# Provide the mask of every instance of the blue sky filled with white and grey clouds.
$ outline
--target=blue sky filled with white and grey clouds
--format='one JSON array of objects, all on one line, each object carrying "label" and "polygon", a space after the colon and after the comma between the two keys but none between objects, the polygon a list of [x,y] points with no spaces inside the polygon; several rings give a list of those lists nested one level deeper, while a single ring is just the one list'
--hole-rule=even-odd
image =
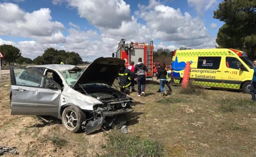
[{"label": "blue sky filled with white and grey clouds", "polygon": [[0,0],[0,45],[34,59],[49,47],[84,61],[111,57],[121,39],[154,49],[215,48],[222,0]]}]

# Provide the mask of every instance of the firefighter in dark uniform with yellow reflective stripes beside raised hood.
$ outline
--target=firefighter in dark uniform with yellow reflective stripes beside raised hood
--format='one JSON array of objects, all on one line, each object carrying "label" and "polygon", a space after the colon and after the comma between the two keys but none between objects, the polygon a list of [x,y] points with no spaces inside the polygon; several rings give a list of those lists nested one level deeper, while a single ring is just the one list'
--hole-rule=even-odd
[{"label": "firefighter in dark uniform with yellow reflective stripes beside raised hood", "polygon": [[127,69],[125,65],[121,67],[118,73],[118,82],[120,86],[120,91],[126,94],[130,94],[131,80],[134,78],[134,72]]}]

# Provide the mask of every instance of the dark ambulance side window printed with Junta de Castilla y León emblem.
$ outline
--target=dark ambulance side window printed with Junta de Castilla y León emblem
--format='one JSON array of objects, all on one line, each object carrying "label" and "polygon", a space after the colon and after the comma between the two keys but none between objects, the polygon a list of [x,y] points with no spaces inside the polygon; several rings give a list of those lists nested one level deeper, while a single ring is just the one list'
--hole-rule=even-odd
[{"label": "dark ambulance side window printed with Junta de Castilla y Le\u00f3n emblem", "polygon": [[198,57],[198,69],[219,69],[221,57]]}]

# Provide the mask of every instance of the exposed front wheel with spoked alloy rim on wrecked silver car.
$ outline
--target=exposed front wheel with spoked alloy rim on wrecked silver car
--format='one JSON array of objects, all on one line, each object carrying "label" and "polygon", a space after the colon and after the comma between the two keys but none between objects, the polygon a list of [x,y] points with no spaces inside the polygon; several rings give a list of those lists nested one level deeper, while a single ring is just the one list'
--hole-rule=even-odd
[{"label": "exposed front wheel with spoked alloy rim on wrecked silver car", "polygon": [[81,130],[82,122],[85,119],[85,113],[75,106],[66,107],[62,113],[63,126],[73,133],[78,133]]}]

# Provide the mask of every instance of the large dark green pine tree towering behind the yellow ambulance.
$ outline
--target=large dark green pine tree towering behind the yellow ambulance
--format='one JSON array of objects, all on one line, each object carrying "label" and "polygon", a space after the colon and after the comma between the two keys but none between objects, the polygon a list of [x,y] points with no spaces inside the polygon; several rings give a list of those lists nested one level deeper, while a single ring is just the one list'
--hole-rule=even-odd
[{"label": "large dark green pine tree towering behind the yellow ambulance", "polygon": [[256,58],[256,0],[224,0],[213,18],[225,22],[217,34],[220,47],[245,50],[251,60]]}]

